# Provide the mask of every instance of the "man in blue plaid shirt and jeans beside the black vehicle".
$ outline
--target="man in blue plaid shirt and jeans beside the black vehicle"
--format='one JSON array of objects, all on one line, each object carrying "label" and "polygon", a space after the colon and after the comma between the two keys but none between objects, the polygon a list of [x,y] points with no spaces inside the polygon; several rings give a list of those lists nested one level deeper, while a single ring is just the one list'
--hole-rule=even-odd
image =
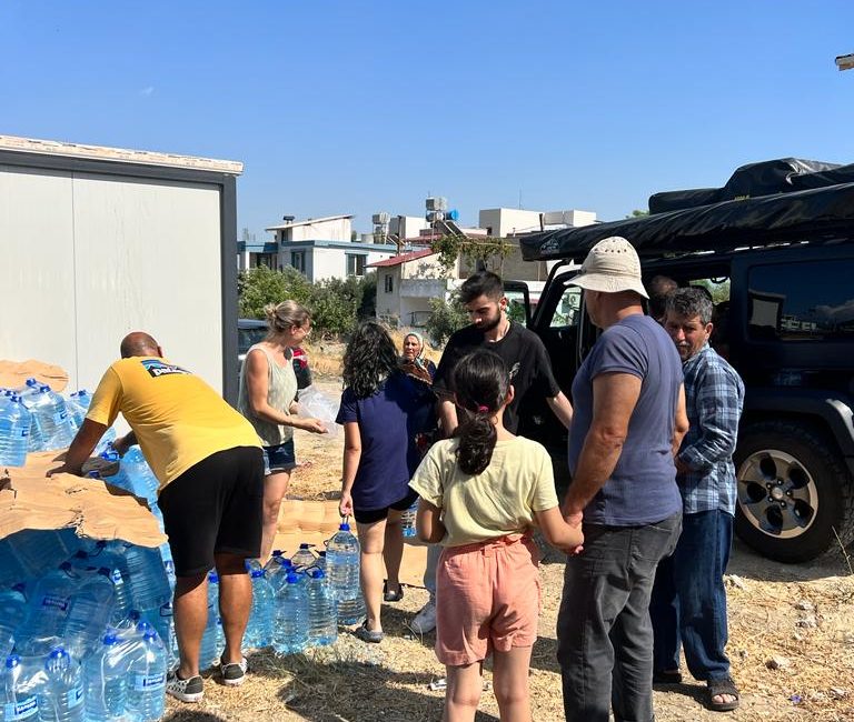
[{"label": "man in blue plaid shirt and jeans beside the black vehicle", "polygon": [[682,358],[691,428],[676,455],[682,537],[673,556],[658,564],[649,605],[655,632],[654,681],[682,681],[682,645],[688,671],[708,685],[708,708],[724,712],[738,706],[738,690],[724,651],[723,576],[733,540],[733,451],[744,384],[708,345],[712,299],[705,289],[689,287],[671,293],[664,327]]}]

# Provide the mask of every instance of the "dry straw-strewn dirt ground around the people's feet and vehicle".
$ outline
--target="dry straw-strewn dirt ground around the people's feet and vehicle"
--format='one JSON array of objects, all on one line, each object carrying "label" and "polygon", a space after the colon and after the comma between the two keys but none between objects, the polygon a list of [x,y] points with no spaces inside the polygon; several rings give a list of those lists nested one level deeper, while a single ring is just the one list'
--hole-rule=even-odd
[{"label": "dry straw-strewn dirt ground around the people's feet and vehicle", "polygon": [[[330,397],[340,380],[319,378]],[[291,495],[335,498],[339,491],[342,434],[325,440],[298,432],[297,454],[310,461],[298,470]],[[560,675],[555,661],[555,621],[563,588],[562,558],[542,565],[544,606],[534,648],[530,690],[534,719],[563,719]],[[686,683],[656,690],[656,719],[810,720],[854,722],[854,575],[841,551],[810,564],[786,565],[757,556],[736,543],[729,564],[728,653],[742,691],[741,708],[729,716],[705,710],[705,686]],[[441,691],[429,683],[444,668],[433,652],[433,634],[413,634],[407,622],[427,592],[406,588],[401,602],[385,604],[386,640],[368,645],[341,631],[332,648],[277,659],[249,655],[250,675],[239,689],[206,673],[205,700],[198,705],[169,701],[167,720],[208,722],[266,720],[310,722],[421,722],[441,715]],[[776,668],[776,669],[773,669]],[[490,680],[490,671],[485,671]],[[478,722],[498,720],[487,689]]]}]

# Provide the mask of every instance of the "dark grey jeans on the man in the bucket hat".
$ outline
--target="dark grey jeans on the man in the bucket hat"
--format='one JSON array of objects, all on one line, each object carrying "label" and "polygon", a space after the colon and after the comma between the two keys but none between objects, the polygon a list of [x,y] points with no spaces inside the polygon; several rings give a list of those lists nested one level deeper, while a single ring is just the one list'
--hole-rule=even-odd
[{"label": "dark grey jeans on the man in the bucket hat", "polygon": [[584,524],[557,616],[557,661],[567,722],[651,722],[655,568],[673,553],[682,514],[655,524]]}]

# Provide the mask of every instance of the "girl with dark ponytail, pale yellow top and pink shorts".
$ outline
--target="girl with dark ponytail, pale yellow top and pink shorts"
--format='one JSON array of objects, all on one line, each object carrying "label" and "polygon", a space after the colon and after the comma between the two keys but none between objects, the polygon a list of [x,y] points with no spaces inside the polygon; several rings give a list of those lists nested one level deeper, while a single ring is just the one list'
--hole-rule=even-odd
[{"label": "girl with dark ponytail, pale yellow top and pink shorts", "polygon": [[468,418],[454,439],[433,445],[409,482],[421,498],[418,537],[444,546],[436,574],[436,656],[448,678],[443,719],[475,719],[491,653],[502,720],[529,722],[540,609],[532,528],[566,551],[580,545],[582,531],[560,514],[548,452],[504,428],[513,387],[502,358],[470,353],[454,371],[454,388]]}]

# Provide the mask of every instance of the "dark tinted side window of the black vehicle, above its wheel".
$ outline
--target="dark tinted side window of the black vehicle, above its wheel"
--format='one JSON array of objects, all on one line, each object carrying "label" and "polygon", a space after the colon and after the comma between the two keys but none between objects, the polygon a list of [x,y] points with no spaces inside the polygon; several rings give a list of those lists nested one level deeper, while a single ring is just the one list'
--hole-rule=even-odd
[{"label": "dark tinted side window of the black vehicle, above its wheel", "polygon": [[748,277],[752,339],[854,339],[851,264],[838,260],[756,265]]}]

